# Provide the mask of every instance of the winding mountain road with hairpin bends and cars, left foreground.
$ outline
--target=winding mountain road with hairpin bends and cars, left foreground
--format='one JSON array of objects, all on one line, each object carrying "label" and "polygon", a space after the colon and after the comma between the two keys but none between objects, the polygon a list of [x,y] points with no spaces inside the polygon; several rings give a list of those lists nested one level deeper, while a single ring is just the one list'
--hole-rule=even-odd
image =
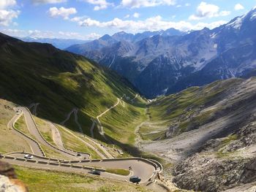
[{"label": "winding mountain road with hairpin bends and cars, left foreground", "polygon": [[[19,110],[19,114],[16,113],[15,116],[12,118],[12,120],[10,120],[10,122],[8,123],[7,126],[9,128],[13,128],[14,123],[18,120],[18,118],[20,118],[21,115],[24,115],[30,134],[33,135],[37,139],[37,141],[42,143],[42,145],[46,145],[47,147],[51,148],[52,150],[56,150],[56,148],[53,148],[53,146],[49,145],[48,142],[45,142],[45,140],[42,138],[42,135],[39,133],[37,125],[34,123],[34,119],[31,116],[31,113],[29,112],[29,110],[26,107],[15,108],[15,111],[18,111],[18,110]],[[55,135],[53,137],[54,140],[56,141],[56,143],[59,143],[58,147],[60,147],[60,148],[64,147],[58,128],[56,128],[56,129],[53,128],[52,130]],[[81,161],[81,160],[70,161],[70,163],[72,163],[73,166],[72,165],[70,166],[68,164],[63,165],[58,162],[50,163],[50,161],[47,158],[45,159],[45,157],[43,157],[42,152],[39,150],[37,142],[33,142],[32,140],[30,141],[28,137],[24,136],[23,134],[20,134],[20,132],[18,132],[18,131],[15,131],[13,129],[12,129],[12,131],[14,131],[15,134],[18,134],[23,139],[26,139],[26,141],[31,146],[32,152],[37,156],[34,157],[33,161],[23,159],[22,157],[23,157],[24,153],[8,154],[8,155],[4,156],[4,158],[1,158],[2,161],[7,161],[10,164],[15,164],[15,165],[20,165],[20,166],[29,166],[29,167],[33,167],[33,168],[39,168],[39,169],[55,169],[55,170],[59,170],[62,172],[80,172],[80,173],[88,173],[90,171],[90,169],[83,169],[83,166],[97,166],[97,167],[102,167],[104,169],[129,169],[129,166],[132,166],[132,172],[130,172],[130,174],[128,176],[121,176],[118,174],[110,174],[108,172],[102,172],[101,176],[113,178],[116,180],[129,181],[130,176],[137,175],[138,177],[141,178],[141,183],[146,183],[148,181],[148,179],[153,177],[153,175],[155,175],[155,173],[158,170],[157,164],[155,164],[152,161],[143,159],[143,158],[111,158],[111,159],[107,158],[107,159],[102,159],[102,160],[99,159],[99,160],[91,160],[91,161],[90,160],[89,161]],[[68,131],[68,130],[66,129],[66,131]],[[76,136],[71,131],[69,131],[69,134],[72,134],[72,136],[85,142],[83,139]],[[91,139],[91,141],[95,145],[99,145],[99,144],[97,144],[97,142],[94,142],[93,139]],[[88,143],[87,143],[87,145],[88,145]],[[93,147],[93,146],[91,145],[91,147]],[[59,150],[56,150],[56,151],[58,151],[60,153]],[[97,149],[95,149],[95,151],[97,151]],[[104,153],[108,154],[108,156],[112,156],[108,153],[107,150],[105,150]],[[66,157],[69,157],[68,153],[63,153],[63,155],[65,155]],[[8,157],[10,157],[10,158],[8,158]],[[11,158],[11,157],[13,157],[13,158]],[[72,158],[77,159],[77,157],[74,158],[74,156],[72,156]],[[102,156],[102,158],[103,158],[103,156]],[[104,156],[104,158],[105,158],[105,156]],[[81,168],[79,169],[79,167],[81,167]]]}]

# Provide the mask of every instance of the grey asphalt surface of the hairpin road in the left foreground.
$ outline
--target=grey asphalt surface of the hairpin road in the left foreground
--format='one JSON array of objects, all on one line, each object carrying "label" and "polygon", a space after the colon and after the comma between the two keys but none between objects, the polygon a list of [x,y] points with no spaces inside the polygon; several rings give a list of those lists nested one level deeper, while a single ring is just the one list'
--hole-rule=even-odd
[{"label": "grey asphalt surface of the hairpin road in the left foreground", "polygon": [[[39,134],[39,131],[37,130],[37,126],[34,123],[33,118],[31,117],[30,112],[26,109],[26,107],[18,107],[15,109],[20,110],[20,114],[16,114],[12,120],[8,123],[8,127],[11,128],[13,123],[15,123],[18,118],[23,114],[25,119],[26,119],[26,124],[28,126],[29,132],[31,135],[33,135],[37,141],[42,143],[42,145],[45,145],[47,147],[50,147],[52,150],[56,150],[54,147],[48,144],[48,142],[45,142],[44,139],[42,139],[42,136]],[[31,146],[31,150],[33,151],[34,154],[42,156],[42,152],[39,150],[38,145],[36,142],[32,141],[31,139],[28,139],[27,137],[23,136],[23,134],[18,133],[18,131],[15,131],[12,129],[12,131],[15,132],[15,134],[18,134],[20,137],[23,139],[26,139],[27,142],[29,142],[29,145]],[[55,130],[56,131],[56,130]],[[75,134],[74,134],[75,135]],[[56,137],[59,138],[59,135],[56,135]],[[76,136],[77,137],[77,136]],[[56,138],[56,139],[58,139]],[[79,138],[79,137],[78,137]],[[62,142],[62,140],[59,138],[58,142]],[[98,144],[99,145],[99,144]],[[63,143],[59,145],[59,147],[63,146]],[[60,153],[59,150],[58,153]],[[62,152],[64,156],[69,157],[69,154]],[[24,153],[13,153],[10,156],[16,157],[16,158],[23,158]],[[74,157],[70,155],[72,159],[74,160],[79,160],[78,157]],[[67,167],[67,166],[56,166],[56,165],[50,165],[48,164],[48,160],[45,160],[43,157],[34,157],[33,160],[36,161],[44,161],[45,164],[36,164],[33,162],[29,161],[18,161],[18,160],[12,160],[12,159],[7,159],[3,158],[3,161],[7,161],[10,164],[16,164],[20,166],[29,166],[33,168],[40,168],[40,169],[55,169],[63,172],[80,172],[80,173],[88,173],[90,170],[88,169],[78,169],[78,168],[73,168],[73,167]],[[53,161],[50,161],[53,162]],[[56,162],[56,161],[55,161]],[[127,160],[127,159],[118,159],[118,158],[111,158],[108,159],[108,161],[97,161],[97,162],[86,162],[86,163],[72,163],[74,165],[79,165],[79,166],[97,166],[97,167],[102,167],[103,169],[129,169],[129,166],[132,167],[132,171],[130,172],[129,176],[121,176],[118,174],[110,174],[108,172],[102,172],[101,176],[102,177],[109,177],[117,180],[129,180],[129,177],[132,175],[136,175],[141,178],[141,183],[146,183],[149,178],[151,178],[152,174],[156,172],[155,167],[146,161],[138,161],[136,159],[132,160]]]}]

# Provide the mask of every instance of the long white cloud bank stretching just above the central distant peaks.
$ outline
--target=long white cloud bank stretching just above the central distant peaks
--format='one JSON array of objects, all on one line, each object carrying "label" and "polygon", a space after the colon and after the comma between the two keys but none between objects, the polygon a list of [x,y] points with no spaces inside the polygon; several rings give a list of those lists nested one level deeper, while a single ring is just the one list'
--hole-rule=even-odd
[{"label": "long white cloud bank stretching just above the central distant peaks", "polygon": [[160,29],[167,28],[176,28],[181,31],[189,31],[189,30],[199,30],[204,27],[215,28],[224,23],[227,23],[224,20],[219,20],[214,23],[197,23],[192,24],[187,21],[181,20],[179,22],[166,21],[162,20],[161,16],[156,16],[153,18],[147,18],[146,20],[121,20],[119,18],[114,18],[113,20],[109,20],[107,22],[100,22],[99,20],[93,20],[91,18],[86,18],[84,20],[78,21],[80,26],[96,26],[99,28],[116,28],[118,30],[125,30],[129,32],[138,32],[138,31],[157,31]]}]

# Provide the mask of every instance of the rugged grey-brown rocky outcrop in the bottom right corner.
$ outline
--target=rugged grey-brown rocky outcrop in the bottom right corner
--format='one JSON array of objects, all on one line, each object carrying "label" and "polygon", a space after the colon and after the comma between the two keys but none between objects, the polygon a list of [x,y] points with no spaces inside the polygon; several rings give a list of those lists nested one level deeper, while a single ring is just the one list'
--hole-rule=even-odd
[{"label": "rugged grey-brown rocky outcrop in the bottom right corner", "polygon": [[254,183],[255,152],[256,124],[249,123],[230,137],[208,141],[200,153],[179,163],[173,182],[195,191],[224,191]]}]

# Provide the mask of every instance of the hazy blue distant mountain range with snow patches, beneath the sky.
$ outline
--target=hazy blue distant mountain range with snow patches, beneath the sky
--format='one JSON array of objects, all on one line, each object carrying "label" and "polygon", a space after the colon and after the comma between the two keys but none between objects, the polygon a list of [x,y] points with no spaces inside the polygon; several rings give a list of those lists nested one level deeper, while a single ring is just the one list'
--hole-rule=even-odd
[{"label": "hazy blue distant mountain range with snow patches, beneath the sky", "polygon": [[127,77],[148,98],[255,74],[256,9],[212,30],[127,34],[121,31],[67,50]]}]

